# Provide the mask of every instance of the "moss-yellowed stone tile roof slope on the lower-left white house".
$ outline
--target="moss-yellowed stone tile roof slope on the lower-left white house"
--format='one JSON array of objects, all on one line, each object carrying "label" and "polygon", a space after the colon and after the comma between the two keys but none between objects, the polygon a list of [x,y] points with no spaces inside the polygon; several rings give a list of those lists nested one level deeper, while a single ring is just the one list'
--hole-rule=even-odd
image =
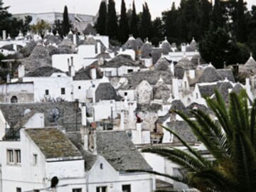
[{"label": "moss-yellowed stone tile roof slope on the lower-left white house", "polygon": [[39,147],[46,159],[81,157],[80,151],[67,136],[56,128],[25,129],[26,133]]}]

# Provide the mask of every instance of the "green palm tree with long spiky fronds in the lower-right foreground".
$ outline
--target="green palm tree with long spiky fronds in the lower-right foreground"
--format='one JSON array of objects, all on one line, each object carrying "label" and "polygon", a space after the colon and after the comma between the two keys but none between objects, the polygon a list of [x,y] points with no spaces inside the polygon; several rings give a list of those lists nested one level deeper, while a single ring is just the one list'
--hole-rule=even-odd
[{"label": "green palm tree with long spiky fronds in the lower-right foreground", "polygon": [[239,95],[231,92],[227,105],[220,93],[215,91],[215,100],[206,98],[206,102],[217,121],[201,110],[191,112],[196,120],[188,118],[183,112],[175,112],[188,123],[211,158],[206,158],[170,128],[164,127],[187,150],[155,146],[143,152],[173,161],[181,166],[181,174],[151,173],[186,183],[199,191],[256,191],[256,100],[248,107],[245,91]]}]

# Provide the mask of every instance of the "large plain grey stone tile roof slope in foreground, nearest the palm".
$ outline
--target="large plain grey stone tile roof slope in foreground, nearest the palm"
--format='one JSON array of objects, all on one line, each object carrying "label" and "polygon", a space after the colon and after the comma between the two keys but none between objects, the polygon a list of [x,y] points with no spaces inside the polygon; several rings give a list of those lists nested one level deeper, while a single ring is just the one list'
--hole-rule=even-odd
[{"label": "large plain grey stone tile roof slope in foreground, nearest the palm", "polygon": [[126,132],[95,132],[97,154],[103,156],[117,171],[151,170]]}]

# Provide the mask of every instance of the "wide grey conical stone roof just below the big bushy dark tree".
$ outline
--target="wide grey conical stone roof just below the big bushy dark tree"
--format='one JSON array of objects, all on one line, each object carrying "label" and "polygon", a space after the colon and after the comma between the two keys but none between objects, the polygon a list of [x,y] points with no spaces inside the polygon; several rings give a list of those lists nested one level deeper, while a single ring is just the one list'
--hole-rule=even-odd
[{"label": "wide grey conical stone roof just below the big bushy dark tree", "polygon": [[210,65],[203,70],[203,73],[197,82],[216,82],[219,80],[223,80],[223,77],[218,73],[218,70],[216,70],[213,65]]}]

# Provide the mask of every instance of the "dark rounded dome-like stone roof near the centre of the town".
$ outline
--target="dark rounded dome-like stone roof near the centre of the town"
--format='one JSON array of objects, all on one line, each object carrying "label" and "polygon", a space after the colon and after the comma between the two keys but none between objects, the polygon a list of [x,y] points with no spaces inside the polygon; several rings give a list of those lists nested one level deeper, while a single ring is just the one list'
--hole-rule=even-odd
[{"label": "dark rounded dome-like stone roof near the centre of the town", "polygon": [[97,86],[95,91],[95,101],[99,102],[100,100],[121,100],[121,97],[117,95],[116,90],[110,84],[110,82],[103,82]]}]

